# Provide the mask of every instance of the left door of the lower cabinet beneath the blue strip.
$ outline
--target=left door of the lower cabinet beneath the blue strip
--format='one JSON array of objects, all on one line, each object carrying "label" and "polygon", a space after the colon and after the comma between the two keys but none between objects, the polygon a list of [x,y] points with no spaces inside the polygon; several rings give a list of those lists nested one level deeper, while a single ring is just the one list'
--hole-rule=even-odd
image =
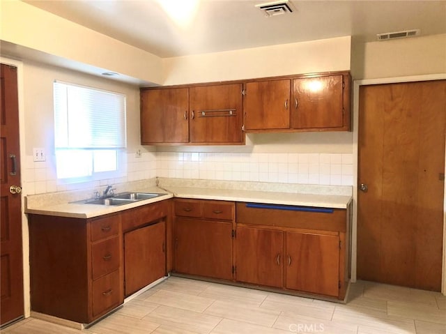
[{"label": "left door of the lower cabinet beneath the blue strip", "polygon": [[236,280],[282,287],[282,231],[237,227]]}]

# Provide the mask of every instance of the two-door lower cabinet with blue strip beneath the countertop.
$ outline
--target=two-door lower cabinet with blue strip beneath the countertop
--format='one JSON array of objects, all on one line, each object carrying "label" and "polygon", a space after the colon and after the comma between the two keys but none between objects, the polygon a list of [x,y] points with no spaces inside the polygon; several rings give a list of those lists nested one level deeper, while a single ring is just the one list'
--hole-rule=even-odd
[{"label": "two-door lower cabinet with blue strip beneath the countertop", "polygon": [[236,213],[238,282],[344,299],[349,208],[238,202]]}]

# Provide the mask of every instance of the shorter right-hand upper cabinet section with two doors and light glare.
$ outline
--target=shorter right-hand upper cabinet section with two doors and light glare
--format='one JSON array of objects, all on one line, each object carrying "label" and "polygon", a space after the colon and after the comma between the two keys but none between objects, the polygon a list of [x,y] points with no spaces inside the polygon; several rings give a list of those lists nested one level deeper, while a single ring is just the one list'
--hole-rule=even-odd
[{"label": "shorter right-hand upper cabinet section with two doors and light glare", "polygon": [[348,72],[296,75],[245,84],[247,132],[351,130]]}]

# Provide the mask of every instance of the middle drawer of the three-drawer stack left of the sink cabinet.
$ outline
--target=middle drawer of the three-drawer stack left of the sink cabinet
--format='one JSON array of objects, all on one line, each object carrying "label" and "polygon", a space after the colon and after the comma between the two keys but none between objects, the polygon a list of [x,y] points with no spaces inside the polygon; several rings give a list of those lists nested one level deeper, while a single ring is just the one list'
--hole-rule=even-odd
[{"label": "middle drawer of the three-drawer stack left of the sink cabinet", "polygon": [[92,245],[93,280],[119,268],[119,250],[119,238],[117,236]]}]

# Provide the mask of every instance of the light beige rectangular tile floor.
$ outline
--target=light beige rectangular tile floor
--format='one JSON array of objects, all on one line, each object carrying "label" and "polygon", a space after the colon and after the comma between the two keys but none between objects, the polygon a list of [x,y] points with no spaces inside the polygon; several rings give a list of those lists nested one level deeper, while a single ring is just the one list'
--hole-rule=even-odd
[{"label": "light beige rectangular tile floor", "polygon": [[[1,332],[81,333],[32,318]],[[82,333],[445,334],[446,296],[357,282],[344,305],[171,277]]]}]

